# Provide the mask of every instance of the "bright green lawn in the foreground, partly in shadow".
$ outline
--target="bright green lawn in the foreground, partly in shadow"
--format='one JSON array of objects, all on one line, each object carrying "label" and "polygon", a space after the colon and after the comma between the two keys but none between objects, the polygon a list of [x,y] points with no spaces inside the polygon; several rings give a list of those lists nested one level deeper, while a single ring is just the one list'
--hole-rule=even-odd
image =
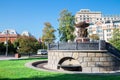
[{"label": "bright green lawn in the foreground, partly in shadow", "polygon": [[63,74],[37,71],[25,67],[25,63],[35,60],[41,59],[0,61],[0,80],[120,80],[119,75]]}]

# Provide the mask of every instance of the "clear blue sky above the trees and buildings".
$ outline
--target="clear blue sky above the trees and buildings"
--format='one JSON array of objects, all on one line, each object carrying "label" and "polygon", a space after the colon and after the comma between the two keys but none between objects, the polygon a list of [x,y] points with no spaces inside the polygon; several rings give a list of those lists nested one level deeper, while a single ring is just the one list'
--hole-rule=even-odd
[{"label": "clear blue sky above the trees and buildings", "polygon": [[[59,28],[59,13],[67,9],[73,15],[80,9],[120,14],[120,0],[0,0],[0,32],[14,29],[28,31],[37,39],[42,36],[45,22]],[[55,33],[58,39],[58,33]]]}]

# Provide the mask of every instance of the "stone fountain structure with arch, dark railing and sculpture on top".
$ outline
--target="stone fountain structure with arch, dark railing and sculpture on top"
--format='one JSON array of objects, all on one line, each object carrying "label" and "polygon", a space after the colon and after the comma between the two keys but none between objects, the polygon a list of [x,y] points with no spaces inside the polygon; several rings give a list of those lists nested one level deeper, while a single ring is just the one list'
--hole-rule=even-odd
[{"label": "stone fountain structure with arch, dark railing and sculpture on top", "polygon": [[120,51],[99,40],[90,42],[88,23],[75,24],[74,43],[50,43],[45,68],[80,73],[111,73],[120,70]]}]

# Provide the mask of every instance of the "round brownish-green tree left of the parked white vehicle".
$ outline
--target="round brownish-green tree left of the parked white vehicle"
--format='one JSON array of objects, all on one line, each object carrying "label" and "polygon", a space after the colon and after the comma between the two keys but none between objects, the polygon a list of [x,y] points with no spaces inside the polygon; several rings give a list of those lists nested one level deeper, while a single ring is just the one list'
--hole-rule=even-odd
[{"label": "round brownish-green tree left of the parked white vehicle", "polygon": [[19,38],[15,41],[14,46],[17,47],[18,53],[36,53],[39,49],[38,41],[34,37],[28,36],[19,36]]}]

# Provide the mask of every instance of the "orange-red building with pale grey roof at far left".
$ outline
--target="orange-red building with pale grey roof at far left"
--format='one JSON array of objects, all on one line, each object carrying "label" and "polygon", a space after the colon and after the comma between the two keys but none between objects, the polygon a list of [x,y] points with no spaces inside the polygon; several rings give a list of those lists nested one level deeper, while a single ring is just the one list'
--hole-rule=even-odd
[{"label": "orange-red building with pale grey roof at far left", "polygon": [[18,37],[18,34],[15,30],[7,29],[0,33],[0,42],[6,42],[8,40],[13,43]]}]

